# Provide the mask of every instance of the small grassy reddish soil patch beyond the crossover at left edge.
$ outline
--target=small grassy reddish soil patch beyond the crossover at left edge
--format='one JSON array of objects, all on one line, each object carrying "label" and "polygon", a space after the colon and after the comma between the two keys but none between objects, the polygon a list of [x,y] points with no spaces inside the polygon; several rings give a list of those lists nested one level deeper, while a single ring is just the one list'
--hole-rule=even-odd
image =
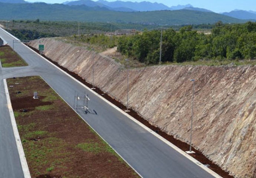
[{"label": "small grassy reddish soil patch beyond the crossover at left edge", "polygon": [[0,46],[0,53],[1,52],[3,52],[3,55],[0,56],[3,67],[27,66],[27,63],[24,62],[24,60],[16,52],[14,52],[10,46]]}]

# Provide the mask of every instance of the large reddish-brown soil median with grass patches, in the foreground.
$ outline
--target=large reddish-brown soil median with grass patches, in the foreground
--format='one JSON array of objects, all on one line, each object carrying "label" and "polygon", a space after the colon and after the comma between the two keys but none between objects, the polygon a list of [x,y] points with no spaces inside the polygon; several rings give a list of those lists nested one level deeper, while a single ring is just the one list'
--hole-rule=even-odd
[{"label": "large reddish-brown soil median with grass patches, in the foreground", "polygon": [[[14,86],[9,88],[9,93],[13,111],[20,113],[19,116],[16,114],[16,122],[33,178],[138,177],[116,154],[104,149],[106,143],[42,79],[25,77],[7,82]],[[16,94],[16,91],[22,93]],[[39,96],[47,93],[55,98],[41,95],[39,99],[33,99],[34,91]],[[27,112],[22,113],[21,109],[27,109]],[[47,134],[28,135],[35,131]],[[102,149],[99,152],[84,151],[78,148],[80,143],[96,143]],[[53,170],[49,171],[50,167]]]}]

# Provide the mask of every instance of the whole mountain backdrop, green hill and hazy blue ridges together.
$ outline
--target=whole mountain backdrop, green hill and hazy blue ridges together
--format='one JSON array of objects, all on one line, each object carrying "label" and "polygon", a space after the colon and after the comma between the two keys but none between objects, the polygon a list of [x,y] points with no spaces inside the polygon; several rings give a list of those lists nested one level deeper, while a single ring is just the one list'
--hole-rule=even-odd
[{"label": "whole mountain backdrop, green hill and hazy blue ridges together", "polygon": [[[223,14],[217,14],[207,9],[193,7],[191,4],[168,7],[162,3],[151,3],[147,1],[138,3],[131,1],[124,2],[120,0],[112,2],[106,0],[77,0],[66,1],[63,4],[27,3],[24,0],[0,0],[0,3],[1,19],[39,18],[42,20],[82,20],[87,22],[111,21],[141,24],[199,24],[215,23],[220,20],[224,23],[245,22],[243,20],[256,21],[255,11],[234,10]],[[7,11],[6,9],[9,7],[12,8]],[[101,13],[93,14],[93,11],[101,11]],[[151,11],[152,13],[149,13]],[[131,12],[132,14],[127,14]],[[49,16],[49,14],[51,15]],[[104,17],[100,17],[98,14],[101,14]],[[110,14],[109,19],[108,14]],[[114,14],[116,15],[115,18],[112,17]],[[146,14],[150,16],[145,16]],[[206,19],[205,17],[208,17],[209,19]]]}]

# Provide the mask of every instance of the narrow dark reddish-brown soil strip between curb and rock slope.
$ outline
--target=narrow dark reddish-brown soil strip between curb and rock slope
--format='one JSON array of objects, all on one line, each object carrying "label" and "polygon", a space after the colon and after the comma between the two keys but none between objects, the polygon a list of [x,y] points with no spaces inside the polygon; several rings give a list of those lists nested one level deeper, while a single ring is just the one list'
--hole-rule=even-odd
[{"label": "narrow dark reddish-brown soil strip between curb and rock slope", "polygon": [[[33,49],[34,51],[36,51],[37,53],[39,53],[39,51],[31,46],[29,46],[31,49]],[[63,66],[60,66],[57,62],[49,59],[47,56],[42,55],[43,57],[45,57],[47,60],[49,60],[50,62],[52,62],[53,64],[55,64],[56,66],[58,66],[60,69],[64,70],[65,72],[69,73],[69,75],[73,76],[75,79],[79,80],[80,82],[82,82],[83,84],[85,84],[86,86],[88,86],[89,88],[92,88],[92,85],[88,82],[86,82],[86,80],[84,80],[83,78],[81,78],[78,74],[69,71],[68,69],[66,69]],[[114,105],[118,106],[119,108],[121,108],[122,110],[126,110],[126,107],[118,102],[117,100],[111,98],[109,95],[107,95],[106,93],[102,92],[99,88],[95,87],[95,92],[97,92],[99,95],[102,95],[102,97],[104,97],[105,99],[109,100],[111,103],[113,103]],[[175,139],[172,135],[168,135],[167,133],[161,131],[160,128],[157,128],[153,125],[151,125],[147,120],[145,120],[144,118],[142,118],[140,115],[138,115],[137,112],[133,111],[132,109],[129,109],[131,112],[129,112],[128,114],[131,115],[133,118],[137,119],[138,121],[140,121],[141,123],[143,123],[145,126],[147,126],[148,128],[150,128],[152,131],[155,131],[156,133],[158,133],[159,135],[161,135],[163,138],[167,139],[168,141],[170,141],[172,144],[174,144],[175,146],[177,146],[178,148],[180,148],[183,151],[188,151],[190,148],[190,145],[188,145],[185,142],[182,142],[180,140]],[[213,170],[214,172],[216,172],[217,174],[219,174],[221,177],[223,178],[233,178],[233,176],[229,175],[228,172],[224,171],[223,169],[221,169],[218,165],[214,164],[212,161],[210,161],[206,156],[204,156],[200,151],[192,148],[192,151],[195,152],[195,154],[190,154],[191,156],[193,156],[193,158],[197,159],[199,162],[201,162],[202,164],[208,164],[210,165],[208,168],[210,168],[211,170]]]}]

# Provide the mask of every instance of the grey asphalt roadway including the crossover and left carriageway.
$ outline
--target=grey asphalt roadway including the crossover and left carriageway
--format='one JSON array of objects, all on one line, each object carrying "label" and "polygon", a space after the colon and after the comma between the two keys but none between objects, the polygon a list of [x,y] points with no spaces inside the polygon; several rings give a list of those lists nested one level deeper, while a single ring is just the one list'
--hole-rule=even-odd
[{"label": "grey asphalt roadway including the crossover and left carriageway", "polygon": [[[13,37],[1,29],[0,37],[12,46]],[[175,151],[165,142],[137,125],[104,100],[93,95],[83,85],[56,69],[56,67],[46,62],[42,57],[32,52],[23,44],[14,43],[14,50],[19,53],[24,60],[26,60],[29,66],[1,69],[0,91],[3,89],[3,78],[40,75],[71,106],[73,106],[75,91],[80,93],[80,95],[82,95],[83,92],[86,92],[89,94],[89,98],[91,99],[89,102],[89,109],[95,110],[97,114],[86,114],[82,110],[79,111],[79,114],[142,177],[213,178],[213,176],[204,171],[204,169],[198,167],[198,165]],[[40,93],[38,94],[40,96]],[[8,162],[10,162],[10,164],[5,166],[5,168],[11,167],[17,170],[15,171],[15,175],[8,177],[20,178],[22,173],[19,171],[19,164],[14,164],[17,163],[19,157],[14,146],[15,142],[12,142],[12,139],[14,138],[10,131],[11,125],[9,121],[9,113],[6,111],[6,99],[2,92],[0,93],[0,99],[0,173],[3,173],[2,175],[10,175],[12,172],[12,170],[4,169],[2,167],[6,164],[6,161],[2,161],[2,158],[4,158],[4,160],[8,160]],[[7,126],[9,126],[9,128],[6,131]],[[2,133],[2,129],[4,130],[4,133]],[[2,138],[3,135],[4,139]],[[7,138],[7,136],[9,137]],[[8,149],[3,149],[3,144],[5,145],[4,147],[7,146]]]}]

